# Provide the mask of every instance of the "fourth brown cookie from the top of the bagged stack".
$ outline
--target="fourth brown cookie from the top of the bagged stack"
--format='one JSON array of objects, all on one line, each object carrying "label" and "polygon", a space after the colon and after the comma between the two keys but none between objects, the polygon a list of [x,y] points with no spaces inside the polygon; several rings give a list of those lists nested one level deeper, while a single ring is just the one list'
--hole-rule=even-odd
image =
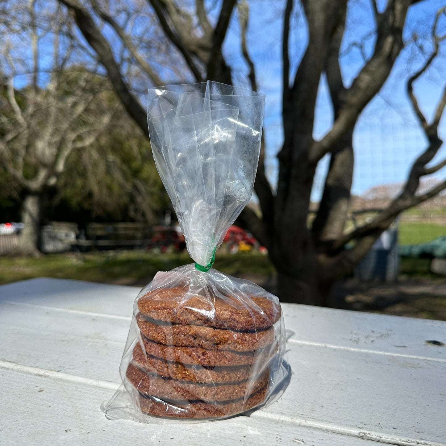
[{"label": "fourth brown cookie from the top of the bagged stack", "polygon": [[[189,366],[182,363],[166,361],[155,356],[144,354],[139,344],[136,344],[133,349],[132,362],[147,372],[157,373],[165,378],[205,384],[246,381],[251,370],[251,364],[208,369],[200,365]],[[264,363],[262,363],[262,367],[265,367]]]}]

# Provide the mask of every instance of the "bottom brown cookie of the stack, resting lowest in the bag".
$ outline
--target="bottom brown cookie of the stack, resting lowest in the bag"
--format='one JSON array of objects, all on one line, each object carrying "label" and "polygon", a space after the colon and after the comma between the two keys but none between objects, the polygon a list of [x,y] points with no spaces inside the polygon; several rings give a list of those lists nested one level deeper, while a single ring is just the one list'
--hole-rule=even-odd
[{"label": "bottom brown cookie of the stack, resting lowest in the bag", "polygon": [[140,409],[157,417],[176,418],[216,418],[228,417],[246,412],[265,400],[266,387],[252,394],[246,401],[240,398],[235,401],[224,401],[218,404],[204,401],[190,401],[187,404],[165,403],[153,396],[139,395]]}]

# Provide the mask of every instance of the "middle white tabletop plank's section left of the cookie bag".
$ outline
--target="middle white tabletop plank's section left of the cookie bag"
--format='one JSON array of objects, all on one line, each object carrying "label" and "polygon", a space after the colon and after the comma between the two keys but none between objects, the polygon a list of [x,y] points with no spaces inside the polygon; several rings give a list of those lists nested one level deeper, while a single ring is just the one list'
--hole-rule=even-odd
[{"label": "middle white tabletop plank's section left of the cookie bag", "polygon": [[117,388],[130,318],[0,303],[0,359]]}]

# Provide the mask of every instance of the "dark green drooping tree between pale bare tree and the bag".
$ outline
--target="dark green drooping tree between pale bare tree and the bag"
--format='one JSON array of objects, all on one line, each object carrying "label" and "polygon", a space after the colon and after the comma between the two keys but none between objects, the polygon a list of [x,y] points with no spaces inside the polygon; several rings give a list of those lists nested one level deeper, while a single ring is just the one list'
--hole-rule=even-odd
[{"label": "dark green drooping tree between pale bare tree and the bag", "polygon": [[107,132],[87,149],[71,154],[48,202],[47,216],[81,225],[98,220],[155,224],[172,207],[149,140],[122,107],[119,110]]}]

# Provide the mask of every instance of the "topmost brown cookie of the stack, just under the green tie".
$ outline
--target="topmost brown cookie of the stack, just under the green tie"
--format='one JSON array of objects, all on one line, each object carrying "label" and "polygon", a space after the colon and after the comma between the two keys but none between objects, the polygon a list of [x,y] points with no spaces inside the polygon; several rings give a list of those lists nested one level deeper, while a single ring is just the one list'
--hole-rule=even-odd
[{"label": "topmost brown cookie of the stack, just under the green tie", "polygon": [[150,291],[137,305],[155,320],[236,331],[266,330],[281,316],[279,303],[266,297],[207,297],[190,294],[183,286]]}]

